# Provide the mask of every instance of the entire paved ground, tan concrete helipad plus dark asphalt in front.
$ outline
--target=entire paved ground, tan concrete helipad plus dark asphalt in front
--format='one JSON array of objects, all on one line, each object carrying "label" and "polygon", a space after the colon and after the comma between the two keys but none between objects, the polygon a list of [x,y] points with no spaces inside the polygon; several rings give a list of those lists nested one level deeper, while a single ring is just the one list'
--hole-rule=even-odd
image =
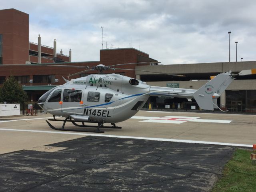
[{"label": "entire paved ground, tan concrete helipad plus dark asphalt in front", "polygon": [[252,115],[140,111],[103,134],[51,130],[50,117],[0,118],[0,192],[208,192],[256,143]]}]

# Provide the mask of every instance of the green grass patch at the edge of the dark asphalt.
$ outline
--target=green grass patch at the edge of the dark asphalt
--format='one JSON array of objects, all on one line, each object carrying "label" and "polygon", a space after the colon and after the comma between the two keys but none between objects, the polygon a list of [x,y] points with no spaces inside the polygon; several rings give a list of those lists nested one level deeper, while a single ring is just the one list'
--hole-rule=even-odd
[{"label": "green grass patch at the edge of the dark asphalt", "polygon": [[212,192],[256,192],[256,166],[252,165],[251,153],[237,149]]}]

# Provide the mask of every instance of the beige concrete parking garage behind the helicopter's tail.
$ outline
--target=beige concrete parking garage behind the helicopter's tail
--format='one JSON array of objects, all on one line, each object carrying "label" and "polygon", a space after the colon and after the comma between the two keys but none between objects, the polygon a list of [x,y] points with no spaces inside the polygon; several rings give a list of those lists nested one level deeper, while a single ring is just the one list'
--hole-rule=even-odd
[{"label": "beige concrete parking garage behind the helicopter's tail", "polygon": [[[219,62],[219,63],[200,63],[200,64],[177,64],[177,65],[158,65],[158,66],[137,66],[136,78],[147,82],[152,86],[164,86],[175,88],[198,89],[208,80],[210,76],[215,76],[222,72],[238,73],[242,70],[256,68],[256,62]],[[154,72],[182,74],[184,77],[159,75]],[[152,98],[152,101],[163,105],[164,103],[181,103],[184,106],[185,100]],[[218,99],[218,104],[222,107],[232,108],[232,110],[250,109],[256,107],[256,75],[237,76],[226,91]]]}]

